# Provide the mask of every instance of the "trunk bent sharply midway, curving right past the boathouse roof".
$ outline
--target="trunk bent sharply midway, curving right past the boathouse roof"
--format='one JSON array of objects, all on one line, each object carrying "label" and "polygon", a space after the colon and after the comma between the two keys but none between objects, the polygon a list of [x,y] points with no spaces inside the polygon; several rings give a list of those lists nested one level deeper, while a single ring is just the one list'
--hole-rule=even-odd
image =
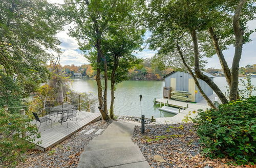
[{"label": "trunk bent sharply midway, curving right past the boathouse roof", "polygon": [[223,104],[226,104],[227,98],[226,96],[221,92],[220,88],[215,84],[214,81],[212,81],[208,76],[204,75],[199,66],[199,51],[198,51],[198,42],[197,42],[197,33],[195,30],[190,30],[190,35],[193,39],[193,45],[194,45],[194,54],[195,54],[195,73],[196,77],[202,79],[205,81],[209,87],[214,90],[214,92],[217,94],[217,96],[220,98],[221,102]]}]

